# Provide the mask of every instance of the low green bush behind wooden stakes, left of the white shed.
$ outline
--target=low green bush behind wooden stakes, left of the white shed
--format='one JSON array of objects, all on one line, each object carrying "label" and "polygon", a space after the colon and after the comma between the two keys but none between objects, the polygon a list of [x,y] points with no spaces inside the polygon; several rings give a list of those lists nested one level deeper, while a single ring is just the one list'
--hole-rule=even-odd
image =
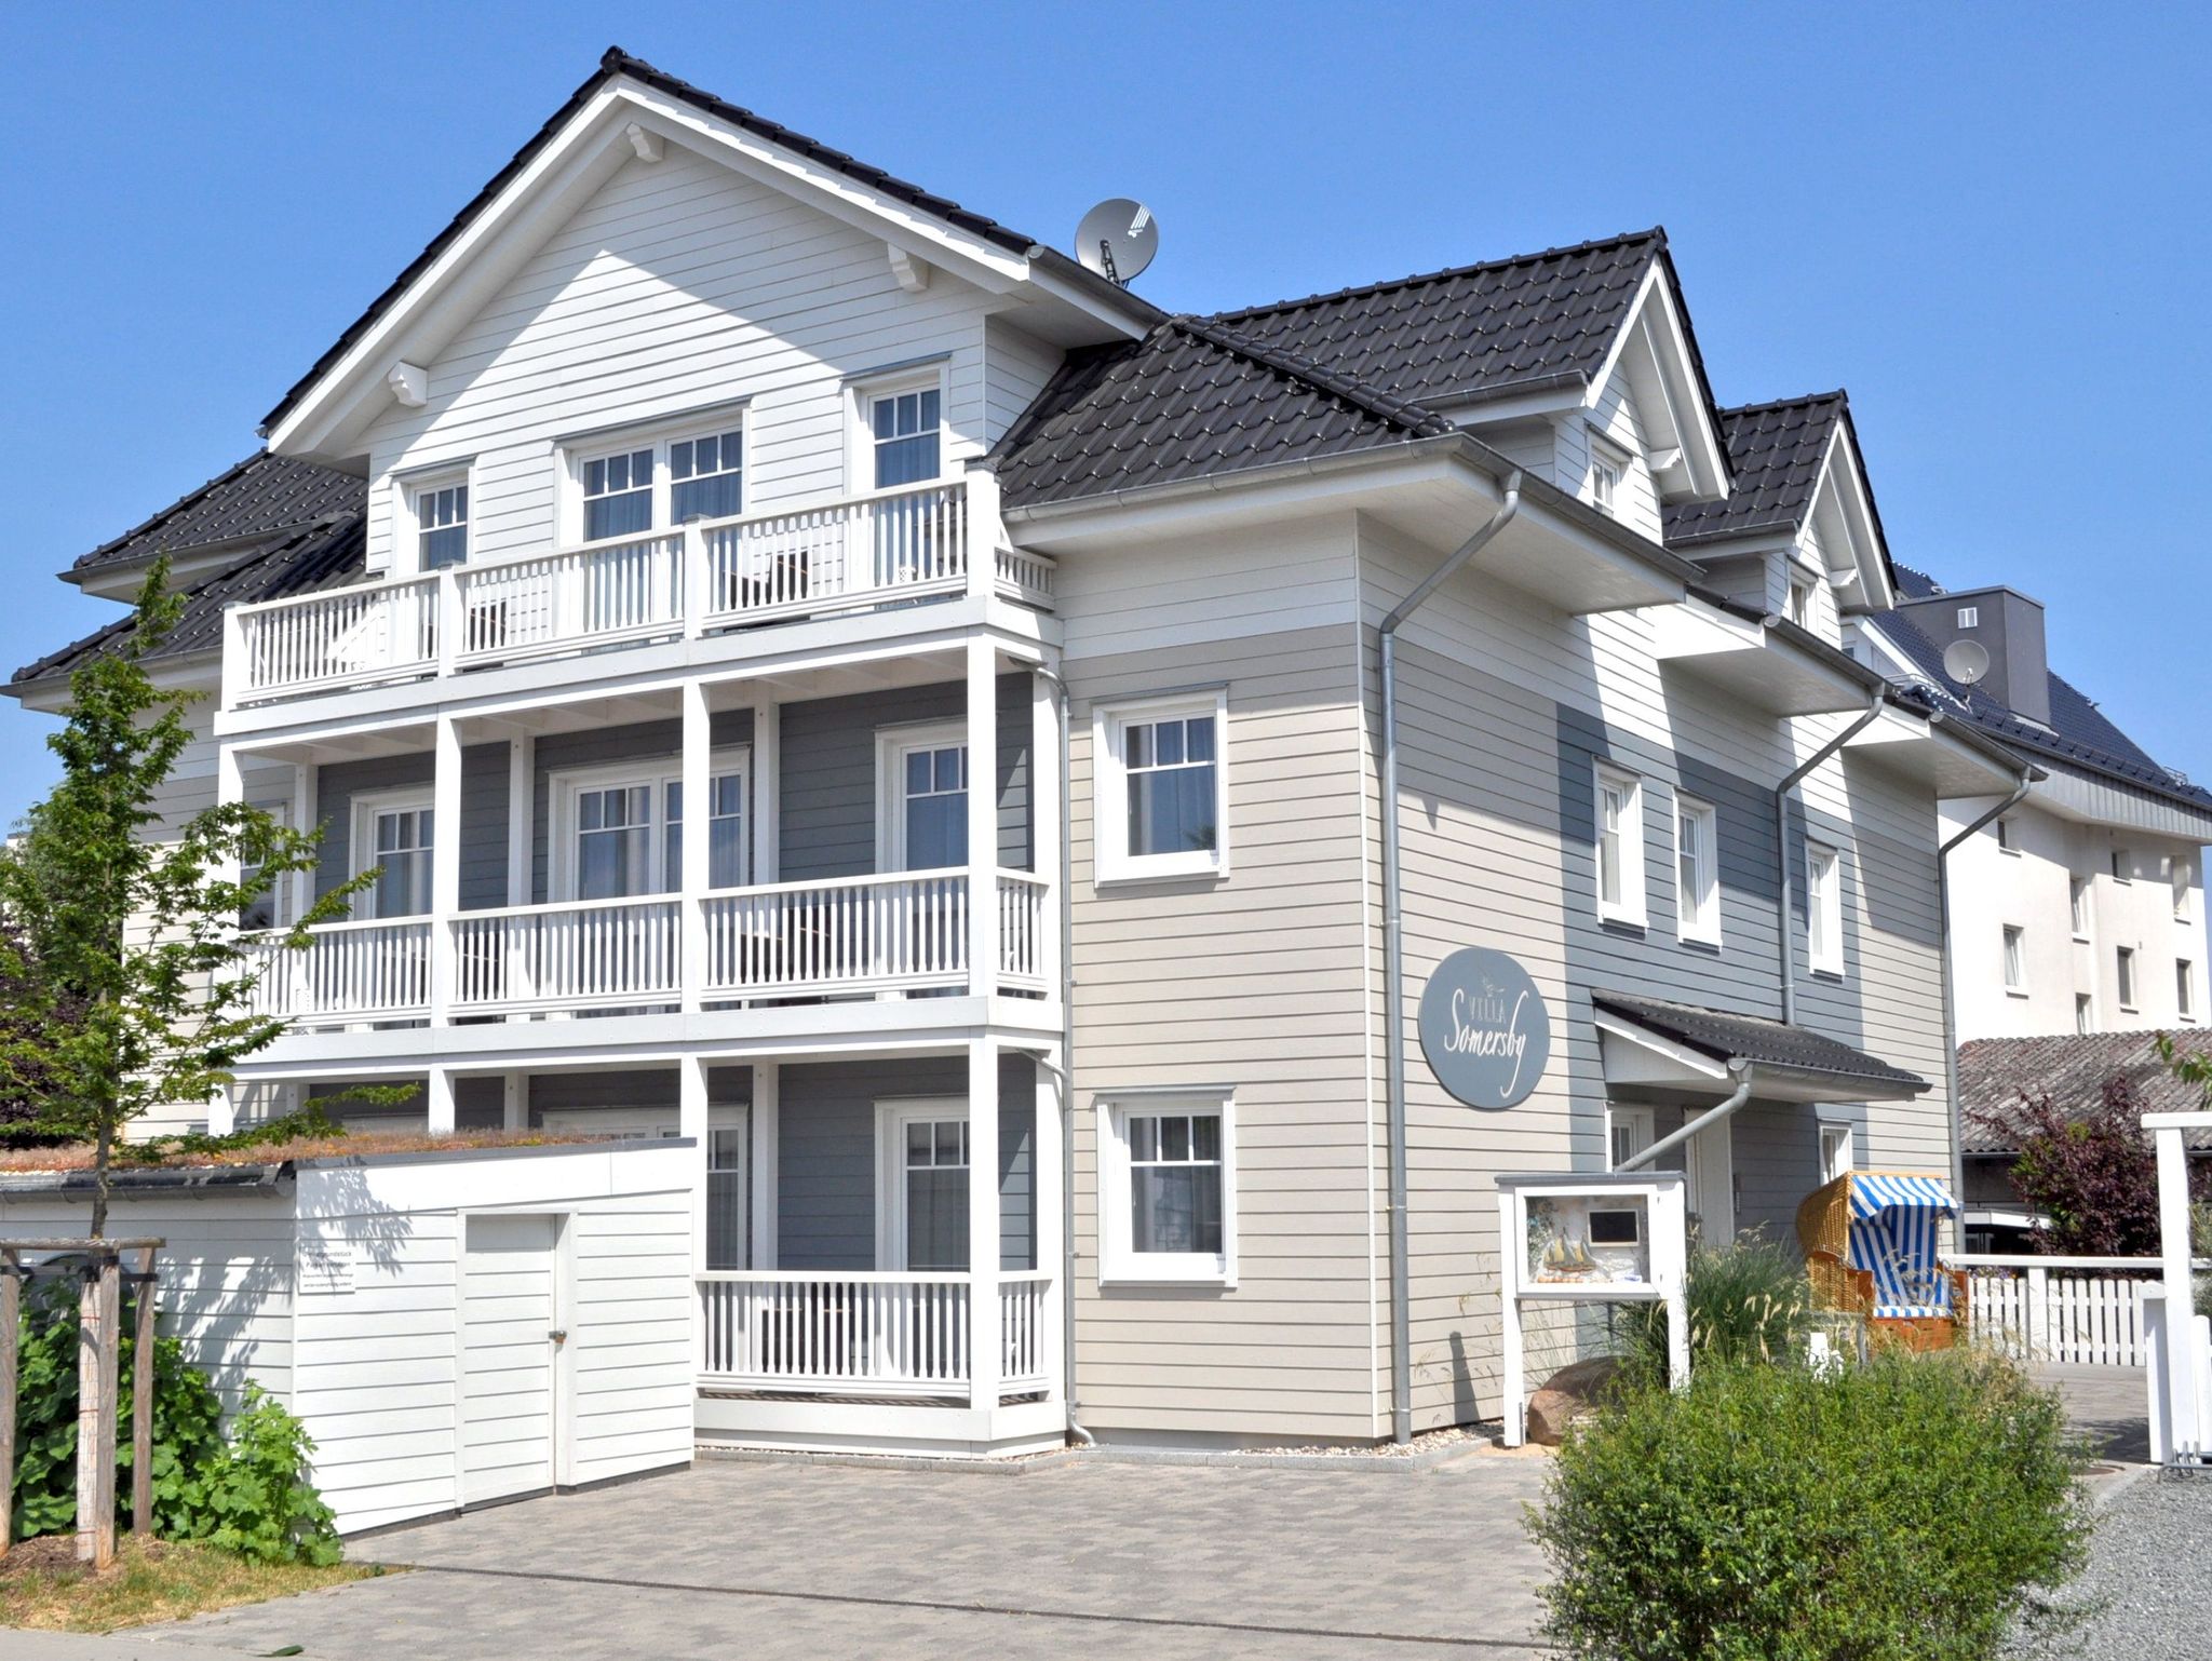
[{"label": "low green bush behind wooden stakes, left of the white shed", "polygon": [[[128,1309],[128,1305],[126,1305]],[[15,1387],[15,1537],[77,1526],[77,1285],[40,1276],[24,1298]],[[135,1338],[122,1340],[115,1515],[131,1522]],[[153,1526],[161,1539],[206,1539],[272,1564],[334,1564],[330,1506],[307,1482],[314,1444],[257,1385],[221,1433],[221,1402],[175,1338],[153,1351]]]}]

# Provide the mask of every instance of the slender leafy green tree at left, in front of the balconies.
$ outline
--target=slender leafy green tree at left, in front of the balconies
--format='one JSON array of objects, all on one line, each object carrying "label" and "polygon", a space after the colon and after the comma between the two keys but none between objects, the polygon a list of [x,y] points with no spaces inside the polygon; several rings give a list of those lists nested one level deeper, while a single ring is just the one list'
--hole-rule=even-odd
[{"label": "slender leafy green tree at left, in front of the balconies", "polygon": [[[161,688],[146,655],[181,599],[157,560],[122,644],[69,677],[69,710],[46,745],[62,781],[0,858],[11,1015],[0,1024],[0,1099],[38,1135],[93,1143],[93,1225],[108,1219],[124,1128],[168,1101],[206,1101],[285,1022],[254,1013],[254,958],[239,918],[292,871],[314,867],[321,832],[248,803],[217,803],[164,827],[159,796],[192,741],[199,692]],[[345,916],[372,874],[301,916],[285,944]]]}]

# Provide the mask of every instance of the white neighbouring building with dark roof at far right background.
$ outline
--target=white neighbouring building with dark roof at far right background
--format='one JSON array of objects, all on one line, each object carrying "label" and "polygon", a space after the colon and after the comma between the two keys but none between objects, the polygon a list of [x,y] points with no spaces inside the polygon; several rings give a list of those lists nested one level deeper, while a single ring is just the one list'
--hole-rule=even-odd
[{"label": "white neighbouring building with dark roof at far right background", "polygon": [[[2051,672],[2037,602],[2013,588],[1947,593],[1907,568],[1898,579],[1898,608],[1860,621],[1863,661],[2044,772],[2011,805],[1944,801],[1944,838],[2004,809],[1951,854],[1960,1042],[2203,1026],[2212,792]],[[1947,675],[1958,641],[1989,664],[1980,681]]]}]

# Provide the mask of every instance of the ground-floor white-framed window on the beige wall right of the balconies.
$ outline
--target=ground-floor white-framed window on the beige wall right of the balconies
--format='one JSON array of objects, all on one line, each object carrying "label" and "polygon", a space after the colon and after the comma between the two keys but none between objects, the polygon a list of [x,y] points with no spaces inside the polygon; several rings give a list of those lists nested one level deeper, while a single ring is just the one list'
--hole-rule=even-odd
[{"label": "ground-floor white-framed window on the beige wall right of the balconies", "polygon": [[1237,1283],[1232,1097],[1099,1099],[1099,1278]]}]

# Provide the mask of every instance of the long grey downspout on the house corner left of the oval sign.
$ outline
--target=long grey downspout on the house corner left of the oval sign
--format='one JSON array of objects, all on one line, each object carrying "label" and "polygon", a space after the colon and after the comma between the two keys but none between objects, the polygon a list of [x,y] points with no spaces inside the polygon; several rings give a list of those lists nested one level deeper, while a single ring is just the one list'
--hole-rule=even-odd
[{"label": "long grey downspout on the house corner left of the oval sign", "polygon": [[1506,493],[1489,522],[1453,549],[1444,562],[1422,577],[1398,608],[1383,619],[1383,1042],[1385,1095],[1389,1104],[1389,1369],[1391,1369],[1391,1440],[1413,1440],[1413,1314],[1411,1250],[1407,1245],[1407,1174],[1405,1174],[1405,918],[1398,894],[1398,630],[1420,610],[1460,566],[1482,553],[1520,513],[1522,473],[1506,473]]}]

